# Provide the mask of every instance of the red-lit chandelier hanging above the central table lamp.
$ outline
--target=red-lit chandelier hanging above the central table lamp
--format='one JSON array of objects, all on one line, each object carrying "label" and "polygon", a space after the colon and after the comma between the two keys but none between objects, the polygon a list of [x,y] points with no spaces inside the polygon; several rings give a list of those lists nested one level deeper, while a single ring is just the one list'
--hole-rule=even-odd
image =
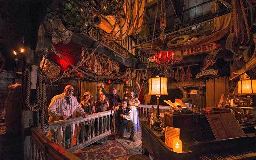
[{"label": "red-lit chandelier hanging above the central table lamp", "polygon": [[155,64],[161,73],[165,73],[174,62],[180,62],[182,59],[182,56],[175,56],[173,51],[160,51],[155,54]]}]

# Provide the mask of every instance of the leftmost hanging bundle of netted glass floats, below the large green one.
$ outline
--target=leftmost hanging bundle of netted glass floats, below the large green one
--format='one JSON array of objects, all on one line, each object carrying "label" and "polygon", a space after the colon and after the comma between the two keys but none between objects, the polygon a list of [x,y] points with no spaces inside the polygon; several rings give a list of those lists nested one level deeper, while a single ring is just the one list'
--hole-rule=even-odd
[{"label": "leftmost hanging bundle of netted glass floats, below the large green one", "polygon": [[63,41],[65,44],[70,42],[73,32],[62,24],[58,12],[49,12],[45,16],[43,24],[51,35],[54,44],[57,44],[59,41]]}]

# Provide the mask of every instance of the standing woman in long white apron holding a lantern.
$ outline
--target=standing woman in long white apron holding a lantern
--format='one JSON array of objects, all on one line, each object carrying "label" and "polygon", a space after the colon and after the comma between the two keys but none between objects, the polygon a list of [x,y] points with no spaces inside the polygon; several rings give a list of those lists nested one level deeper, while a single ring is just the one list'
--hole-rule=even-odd
[{"label": "standing woman in long white apron holding a lantern", "polygon": [[132,110],[133,112],[133,118],[132,121],[135,124],[135,132],[138,131],[140,129],[140,123],[139,123],[139,114],[138,114],[138,107],[135,106],[135,100],[138,101],[138,105],[140,104],[140,101],[138,98],[133,97],[134,96],[134,92],[131,91],[130,92],[130,97],[127,98],[127,102],[128,102],[128,107]]}]

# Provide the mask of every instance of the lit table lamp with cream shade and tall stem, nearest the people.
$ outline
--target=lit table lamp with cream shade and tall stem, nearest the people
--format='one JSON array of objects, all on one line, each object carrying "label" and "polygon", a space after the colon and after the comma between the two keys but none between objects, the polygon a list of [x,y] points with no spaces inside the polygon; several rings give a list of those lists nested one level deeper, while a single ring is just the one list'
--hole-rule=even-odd
[{"label": "lit table lamp with cream shade and tall stem, nearest the people", "polygon": [[157,115],[155,119],[154,130],[162,131],[160,127],[161,120],[159,115],[159,97],[161,95],[168,95],[167,93],[167,78],[156,76],[155,78],[149,78],[149,91],[148,95],[155,95],[157,97]]}]

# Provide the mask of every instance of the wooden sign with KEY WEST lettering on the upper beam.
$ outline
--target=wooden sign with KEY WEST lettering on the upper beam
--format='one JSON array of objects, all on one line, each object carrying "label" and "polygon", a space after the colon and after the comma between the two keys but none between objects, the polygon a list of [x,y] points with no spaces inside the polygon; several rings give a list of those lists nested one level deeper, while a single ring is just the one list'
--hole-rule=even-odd
[{"label": "wooden sign with KEY WEST lettering on the upper beam", "polygon": [[[91,31],[89,32],[89,35],[92,39],[99,42],[99,39],[100,39],[99,33],[95,29],[91,29]],[[109,48],[110,50],[114,51],[115,53],[121,55],[124,58],[127,58],[127,59],[130,58],[129,52],[126,51],[125,49],[123,49],[121,46],[119,46],[115,42],[106,41],[104,43],[104,46],[106,46],[107,48]]]}]

